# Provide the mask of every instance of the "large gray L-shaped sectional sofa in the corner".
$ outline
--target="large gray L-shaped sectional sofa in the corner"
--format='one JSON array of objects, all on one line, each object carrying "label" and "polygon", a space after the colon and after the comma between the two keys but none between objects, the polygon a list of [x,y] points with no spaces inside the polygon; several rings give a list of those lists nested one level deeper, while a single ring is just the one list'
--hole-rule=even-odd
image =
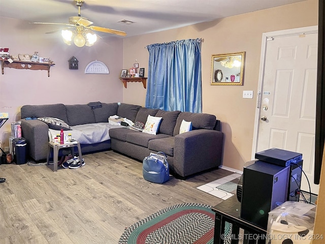
[{"label": "large gray L-shaped sectional sofa in the corner", "polygon": [[[99,102],[98,102],[99,103]],[[215,115],[181,111],[149,109],[138,105],[100,103],[92,107],[84,105],[24,105],[21,107],[22,135],[28,144],[29,156],[36,160],[47,157],[49,126],[38,119],[26,120],[26,117],[54,117],[66,121],[72,131],[79,126],[90,125],[93,128],[105,128],[110,139],[81,143],[82,153],[113,149],[119,153],[142,161],[151,152],[164,151],[168,156],[171,173],[186,177],[203,170],[218,167],[221,164],[223,133],[220,121]],[[108,117],[118,115],[134,123],[146,123],[148,115],[162,117],[156,135],[130,130],[124,126],[111,126]],[[182,120],[192,122],[192,130],[179,134]],[[74,135],[74,134],[73,134]]]}]

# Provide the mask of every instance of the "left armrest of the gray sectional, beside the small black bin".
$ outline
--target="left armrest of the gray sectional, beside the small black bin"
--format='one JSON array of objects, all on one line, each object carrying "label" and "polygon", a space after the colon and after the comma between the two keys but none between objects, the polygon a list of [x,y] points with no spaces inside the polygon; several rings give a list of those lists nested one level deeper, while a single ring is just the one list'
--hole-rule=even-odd
[{"label": "left armrest of the gray sectional, beside the small black bin", "polygon": [[38,119],[21,119],[22,137],[27,142],[29,156],[38,161],[47,158],[49,127]]}]

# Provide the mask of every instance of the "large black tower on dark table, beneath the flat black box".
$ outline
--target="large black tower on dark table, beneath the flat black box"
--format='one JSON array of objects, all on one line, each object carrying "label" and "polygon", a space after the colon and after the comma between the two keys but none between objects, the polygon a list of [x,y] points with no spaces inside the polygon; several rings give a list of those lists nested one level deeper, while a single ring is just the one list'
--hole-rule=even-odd
[{"label": "large black tower on dark table, beneath the flat black box", "polygon": [[287,199],[290,166],[256,161],[243,171],[240,217],[267,229],[268,213]]}]

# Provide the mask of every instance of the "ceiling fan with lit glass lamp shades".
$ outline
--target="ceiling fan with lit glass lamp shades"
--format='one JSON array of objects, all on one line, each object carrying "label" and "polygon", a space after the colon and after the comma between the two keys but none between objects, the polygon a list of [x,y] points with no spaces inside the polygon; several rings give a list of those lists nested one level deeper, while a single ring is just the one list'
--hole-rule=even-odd
[{"label": "ceiling fan with lit glass lamp shades", "polygon": [[[110,29],[105,27],[99,27],[91,25],[93,22],[88,19],[81,17],[80,15],[80,7],[82,7],[84,1],[83,0],[74,0],[76,6],[78,7],[78,16],[72,16],[69,18],[69,23],[43,23],[43,22],[32,22],[32,24],[58,24],[58,25],[68,25],[70,27],[62,28],[62,37],[64,43],[71,45],[72,38],[76,46],[83,47],[92,46],[94,42],[97,40],[97,35],[93,31],[97,32],[105,32],[110,34],[115,34],[119,36],[126,36],[125,32],[117,31],[116,29]],[[74,31],[70,31],[69,28],[75,28]],[[47,32],[46,34],[55,33],[58,30]]]}]

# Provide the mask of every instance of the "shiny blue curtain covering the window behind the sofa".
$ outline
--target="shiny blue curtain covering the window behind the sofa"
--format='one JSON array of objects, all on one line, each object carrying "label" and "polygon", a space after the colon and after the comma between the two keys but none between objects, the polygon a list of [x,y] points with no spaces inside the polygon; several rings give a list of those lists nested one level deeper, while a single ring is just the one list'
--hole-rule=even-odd
[{"label": "shiny blue curtain covering the window behind the sofa", "polygon": [[202,112],[201,39],[147,46],[146,107]]}]

